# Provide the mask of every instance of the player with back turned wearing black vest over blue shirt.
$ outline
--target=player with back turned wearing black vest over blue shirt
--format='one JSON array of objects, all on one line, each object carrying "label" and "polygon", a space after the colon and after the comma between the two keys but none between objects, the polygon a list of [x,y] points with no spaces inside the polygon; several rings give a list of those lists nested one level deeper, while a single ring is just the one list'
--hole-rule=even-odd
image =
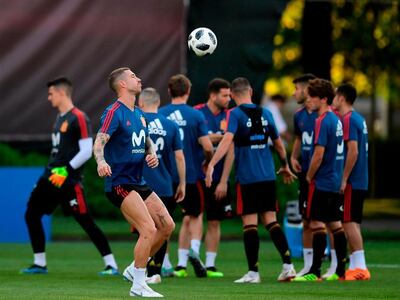
[{"label": "player with back turned wearing black vest over blue shirt", "polygon": [[272,114],[251,101],[252,88],[246,78],[236,78],[231,84],[231,95],[238,107],[228,113],[228,130],[211,159],[206,174],[206,184],[211,186],[214,167],[227,153],[232,142],[235,145],[235,168],[237,179],[237,212],[242,216],[243,240],[249,271],[236,283],[259,283],[258,214],[269,231],[279,251],[283,268],[279,281],[296,276],[291,262],[286,237],[276,221],[275,166],[268,139],[273,141],[280,160],[285,183],[291,183],[296,176],[290,171],[286,150],[277,133]]}]

